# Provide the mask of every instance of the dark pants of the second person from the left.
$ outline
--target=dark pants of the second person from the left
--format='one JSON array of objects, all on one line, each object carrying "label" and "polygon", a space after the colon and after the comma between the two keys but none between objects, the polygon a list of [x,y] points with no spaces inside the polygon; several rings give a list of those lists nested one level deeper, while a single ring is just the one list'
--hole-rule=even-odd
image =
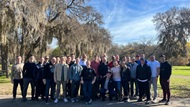
[{"label": "dark pants of the second person from the left", "polygon": [[32,78],[24,78],[23,79],[23,99],[26,99],[27,90],[28,90],[28,84],[29,83],[31,85],[32,99],[34,99],[35,83],[34,83],[34,79],[32,79]]}]

